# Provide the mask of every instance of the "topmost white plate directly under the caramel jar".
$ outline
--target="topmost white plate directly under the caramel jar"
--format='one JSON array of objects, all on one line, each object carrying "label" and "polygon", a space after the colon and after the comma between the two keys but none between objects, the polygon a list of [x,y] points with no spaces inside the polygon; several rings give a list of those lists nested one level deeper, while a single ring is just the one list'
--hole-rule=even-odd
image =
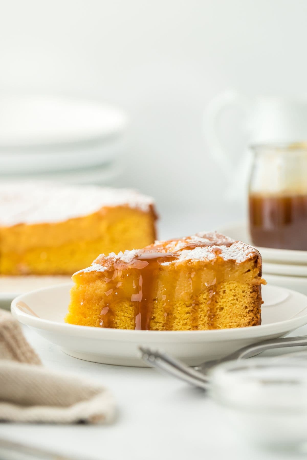
[{"label": "topmost white plate directly under the caramel jar", "polygon": [[[224,235],[230,236],[234,240],[240,240],[253,245],[250,241],[248,226],[246,222],[229,224],[219,231]],[[307,251],[293,251],[290,249],[275,249],[273,247],[256,247],[261,253],[264,262],[283,263],[283,264],[307,264]]]}]

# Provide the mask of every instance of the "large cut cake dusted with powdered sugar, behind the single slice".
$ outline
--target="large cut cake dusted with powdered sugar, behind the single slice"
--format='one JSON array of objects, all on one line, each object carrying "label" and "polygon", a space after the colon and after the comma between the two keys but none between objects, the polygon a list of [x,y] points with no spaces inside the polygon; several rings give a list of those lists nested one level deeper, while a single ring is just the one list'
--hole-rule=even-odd
[{"label": "large cut cake dusted with powdered sugar, behind the single slice", "polygon": [[153,200],[134,190],[0,185],[0,274],[69,274],[99,253],[155,241]]}]

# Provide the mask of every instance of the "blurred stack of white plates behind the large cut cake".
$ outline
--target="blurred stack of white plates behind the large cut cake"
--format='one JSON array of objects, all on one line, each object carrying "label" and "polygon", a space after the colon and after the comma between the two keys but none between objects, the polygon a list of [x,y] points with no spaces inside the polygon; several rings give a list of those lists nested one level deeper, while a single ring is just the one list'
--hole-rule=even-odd
[{"label": "blurred stack of white plates behind the large cut cake", "polygon": [[108,183],[121,170],[126,126],[109,105],[0,95],[0,180]]}]

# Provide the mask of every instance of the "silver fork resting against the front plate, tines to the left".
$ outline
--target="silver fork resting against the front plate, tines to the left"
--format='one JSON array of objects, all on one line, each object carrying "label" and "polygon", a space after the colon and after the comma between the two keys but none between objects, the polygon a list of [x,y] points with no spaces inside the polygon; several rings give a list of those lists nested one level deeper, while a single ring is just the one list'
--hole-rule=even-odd
[{"label": "silver fork resting against the front plate, tines to the left", "polygon": [[258,342],[256,344],[247,345],[240,350],[227,355],[224,358],[215,359],[212,361],[205,361],[199,366],[189,368],[184,362],[179,359],[169,356],[167,353],[161,351],[153,351],[150,348],[139,346],[142,353],[142,359],[156,368],[173,375],[174,377],[183,380],[198,388],[207,390],[209,388],[209,379],[207,376],[208,371],[220,364],[221,362],[246,359],[255,356],[262,351],[270,350],[272,348],[283,348],[290,346],[307,345],[307,335],[300,337],[284,337],[279,339],[270,339]]}]

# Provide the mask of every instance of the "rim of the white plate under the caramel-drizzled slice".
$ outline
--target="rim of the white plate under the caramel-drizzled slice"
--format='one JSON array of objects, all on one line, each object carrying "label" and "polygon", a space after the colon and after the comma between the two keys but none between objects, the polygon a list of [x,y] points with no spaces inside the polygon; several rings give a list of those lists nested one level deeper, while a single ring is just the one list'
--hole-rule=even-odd
[{"label": "rim of the white plate under the caramel-drizzled slice", "polygon": [[[130,329],[112,329],[112,328],[93,328],[92,326],[81,326],[77,324],[68,324],[68,323],[60,323],[53,320],[46,320],[43,318],[37,318],[35,316],[29,315],[18,309],[16,306],[17,302],[24,301],[26,296],[41,293],[44,291],[53,291],[57,289],[65,289],[71,288],[73,286],[73,282],[69,283],[62,283],[57,284],[54,286],[49,286],[46,288],[35,289],[25,294],[21,294],[20,296],[16,297],[12,300],[11,303],[11,312],[12,315],[22,324],[25,324],[29,327],[45,330],[54,333],[63,333],[69,336],[83,336],[84,338],[89,339],[110,339],[121,341],[129,340],[134,341],[135,335],[138,334],[139,338],[142,339],[146,336],[146,340],[151,337],[152,339],[188,339],[188,341],[199,341],[203,338],[203,336],[208,337],[211,341],[218,341],[218,340],[228,340],[232,338],[232,335],[237,332],[239,337],[237,339],[244,339],[244,338],[255,338],[263,335],[265,331],[269,333],[270,329],[277,328],[278,330],[275,331],[276,334],[283,332],[286,334],[290,330],[294,330],[300,326],[307,324],[307,312],[305,315],[299,316],[297,318],[290,318],[288,320],[280,321],[280,322],[272,322],[269,324],[261,324],[260,326],[246,326],[244,328],[228,328],[228,329],[209,329],[209,330],[197,330],[197,331],[135,331]],[[288,288],[281,288],[275,285],[269,285],[268,287],[274,287],[279,289],[283,289],[288,293],[294,295],[295,297],[302,297],[306,300],[306,307],[304,308],[307,310],[307,296],[305,294],[299,293],[292,289]],[[287,324],[285,328],[285,323]],[[279,328],[278,328],[279,326]],[[56,330],[55,330],[56,329]],[[90,332],[91,331],[91,332]],[[239,332],[240,331],[240,332]],[[263,331],[263,333],[261,332]],[[124,336],[117,338],[118,335]],[[155,340],[153,340],[155,341]],[[168,340],[167,340],[168,341]],[[171,340],[173,341],[173,340]],[[209,340],[210,341],[210,340]]]}]

